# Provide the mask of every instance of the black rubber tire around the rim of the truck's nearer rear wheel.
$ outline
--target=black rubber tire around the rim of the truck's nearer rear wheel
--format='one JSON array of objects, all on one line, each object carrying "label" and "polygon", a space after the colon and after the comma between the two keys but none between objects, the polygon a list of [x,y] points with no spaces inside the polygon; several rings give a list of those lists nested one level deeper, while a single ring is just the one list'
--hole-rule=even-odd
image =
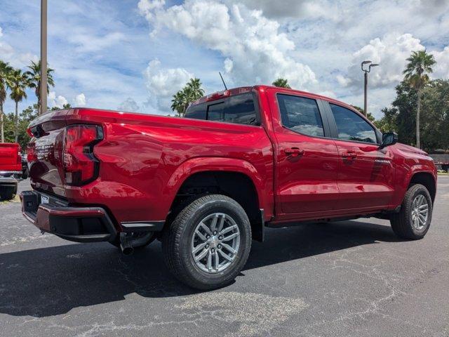
[{"label": "black rubber tire around the rim of the truck's nearer rear wheel", "polygon": [[[191,250],[196,226],[213,213],[230,216],[240,232],[234,260],[225,270],[215,274],[201,270],[194,262]],[[222,194],[209,194],[192,201],[177,214],[162,237],[163,257],[170,272],[180,282],[200,290],[217,289],[232,283],[246,264],[250,249],[251,227],[246,212],[234,199]]]}]

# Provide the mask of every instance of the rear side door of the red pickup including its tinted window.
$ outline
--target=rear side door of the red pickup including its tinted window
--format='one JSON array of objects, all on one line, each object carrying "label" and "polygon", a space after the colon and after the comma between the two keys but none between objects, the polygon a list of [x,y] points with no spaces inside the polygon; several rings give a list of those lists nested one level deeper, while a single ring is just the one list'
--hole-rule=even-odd
[{"label": "rear side door of the red pickup including its tinted window", "polygon": [[[269,89],[276,137],[276,217],[319,217],[338,201],[338,152],[321,100]],[[279,207],[280,206],[280,207]]]}]

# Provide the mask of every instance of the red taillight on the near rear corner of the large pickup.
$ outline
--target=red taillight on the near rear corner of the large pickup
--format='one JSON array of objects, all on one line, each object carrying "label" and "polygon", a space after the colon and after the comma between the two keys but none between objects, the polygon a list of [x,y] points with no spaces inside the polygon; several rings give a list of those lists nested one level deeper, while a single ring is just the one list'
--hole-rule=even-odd
[{"label": "red taillight on the near rear corner of the large pickup", "polygon": [[101,126],[76,124],[65,128],[62,161],[67,185],[83,185],[98,176],[93,145],[103,138]]}]

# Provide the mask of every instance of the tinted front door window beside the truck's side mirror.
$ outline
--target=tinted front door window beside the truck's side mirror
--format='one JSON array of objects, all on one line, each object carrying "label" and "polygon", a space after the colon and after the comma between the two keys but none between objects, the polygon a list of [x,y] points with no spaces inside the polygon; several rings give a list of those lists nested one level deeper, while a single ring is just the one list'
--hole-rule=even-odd
[{"label": "tinted front door window beside the truck's side mirror", "polygon": [[377,143],[373,126],[354,111],[330,104],[330,109],[337,124],[338,138],[358,142]]}]

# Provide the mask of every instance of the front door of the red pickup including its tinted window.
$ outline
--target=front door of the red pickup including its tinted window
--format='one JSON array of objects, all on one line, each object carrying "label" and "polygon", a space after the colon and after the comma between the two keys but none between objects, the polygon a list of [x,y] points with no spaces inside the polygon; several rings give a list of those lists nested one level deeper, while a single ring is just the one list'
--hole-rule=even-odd
[{"label": "front door of the red pickup including its tinted window", "polygon": [[339,154],[337,210],[382,209],[394,194],[394,164],[388,148],[369,121],[341,105],[327,107],[330,132]]}]

